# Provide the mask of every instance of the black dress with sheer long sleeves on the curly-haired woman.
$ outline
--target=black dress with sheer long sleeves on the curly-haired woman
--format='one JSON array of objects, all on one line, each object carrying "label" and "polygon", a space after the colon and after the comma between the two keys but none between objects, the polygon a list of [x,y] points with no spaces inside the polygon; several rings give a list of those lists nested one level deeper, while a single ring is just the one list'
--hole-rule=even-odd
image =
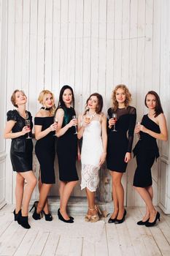
[{"label": "black dress with sheer long sleeves on the curly-haired woman", "polygon": [[131,153],[134,140],[136,108],[128,106],[127,108],[117,108],[116,111],[109,108],[107,112],[108,119],[112,118],[112,113],[117,113],[117,122],[115,124],[117,132],[112,131],[113,127],[111,129],[107,128],[107,168],[118,173],[125,173],[127,167],[125,154],[127,152]]}]

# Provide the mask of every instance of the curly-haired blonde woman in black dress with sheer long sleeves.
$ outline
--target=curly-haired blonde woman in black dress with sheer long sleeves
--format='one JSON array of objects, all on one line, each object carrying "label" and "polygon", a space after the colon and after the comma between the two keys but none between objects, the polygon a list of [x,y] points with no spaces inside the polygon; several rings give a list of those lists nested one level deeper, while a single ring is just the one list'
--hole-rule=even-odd
[{"label": "curly-haired blonde woman in black dress with sheer long sleeves", "polygon": [[[131,94],[124,85],[118,85],[112,93],[112,108],[108,110],[107,168],[112,176],[112,197],[114,212],[109,223],[125,220],[124,189],[121,179],[131,160],[134,140],[136,109],[131,107]],[[128,132],[128,138],[127,138]]]}]

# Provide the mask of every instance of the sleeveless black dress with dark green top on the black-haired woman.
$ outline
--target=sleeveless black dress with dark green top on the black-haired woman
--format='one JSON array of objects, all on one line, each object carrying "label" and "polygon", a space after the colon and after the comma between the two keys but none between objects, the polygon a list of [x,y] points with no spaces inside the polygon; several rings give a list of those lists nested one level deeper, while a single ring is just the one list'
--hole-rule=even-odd
[{"label": "sleeveless black dress with dark green top on the black-haired woman", "polygon": [[[61,107],[60,107],[61,108]],[[75,116],[74,108],[62,108],[64,111],[63,124],[69,124],[72,116]],[[59,165],[60,181],[78,181],[76,159],[77,159],[77,135],[74,134],[75,127],[69,128],[64,135],[57,139],[57,155]]]}]

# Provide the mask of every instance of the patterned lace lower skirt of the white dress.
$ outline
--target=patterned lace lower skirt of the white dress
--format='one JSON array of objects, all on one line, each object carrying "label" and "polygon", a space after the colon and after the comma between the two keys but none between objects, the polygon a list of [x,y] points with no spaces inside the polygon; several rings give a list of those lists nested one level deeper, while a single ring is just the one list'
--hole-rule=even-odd
[{"label": "patterned lace lower skirt of the white dress", "polygon": [[90,192],[95,192],[98,187],[98,170],[99,166],[95,165],[82,165],[82,181],[81,181],[81,189],[87,187]]}]

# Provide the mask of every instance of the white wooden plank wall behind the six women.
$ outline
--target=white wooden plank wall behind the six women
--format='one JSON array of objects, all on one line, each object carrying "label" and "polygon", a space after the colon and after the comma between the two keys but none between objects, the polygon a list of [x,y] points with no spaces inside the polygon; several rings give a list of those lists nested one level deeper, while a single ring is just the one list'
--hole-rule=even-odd
[{"label": "white wooden plank wall behind the six women", "polygon": [[[53,91],[57,105],[61,87],[69,84],[77,114],[95,91],[103,95],[106,112],[113,87],[125,83],[140,120],[146,111],[144,94],[150,89],[160,92],[161,4],[161,0],[8,0],[7,110],[12,108],[9,98],[14,89],[26,91],[34,116],[42,89]],[[9,147],[7,141],[7,152]],[[9,155],[6,169],[11,202],[9,187],[15,178],[12,181]],[[38,171],[37,166],[34,169]],[[134,169],[132,160],[123,177],[128,206],[142,203],[131,186]],[[153,177],[157,194],[157,165]],[[51,193],[58,194],[58,182]],[[74,195],[84,192],[77,187]]]}]

